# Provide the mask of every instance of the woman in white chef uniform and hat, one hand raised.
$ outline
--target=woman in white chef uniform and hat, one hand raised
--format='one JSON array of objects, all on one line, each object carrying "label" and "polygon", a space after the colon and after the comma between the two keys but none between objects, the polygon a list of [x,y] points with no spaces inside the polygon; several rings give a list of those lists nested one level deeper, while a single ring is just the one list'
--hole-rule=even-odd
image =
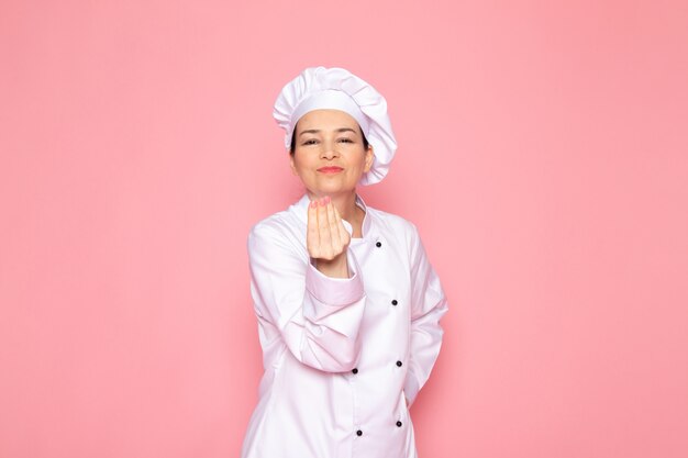
[{"label": "woman in white chef uniform and hat, one hand raised", "polygon": [[386,101],[342,68],[307,68],[274,115],[306,192],[248,235],[265,373],[242,458],[417,457],[409,406],[447,304],[417,227],[356,192],[397,148]]}]

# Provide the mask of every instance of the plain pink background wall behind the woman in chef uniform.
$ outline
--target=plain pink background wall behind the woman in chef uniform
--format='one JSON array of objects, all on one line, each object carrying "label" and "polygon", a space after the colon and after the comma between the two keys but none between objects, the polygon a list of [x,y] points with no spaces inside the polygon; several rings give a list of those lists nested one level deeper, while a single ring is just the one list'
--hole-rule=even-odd
[{"label": "plain pink background wall behind the woman in chef uniform", "polygon": [[[555,4],[556,3],[556,4]],[[281,86],[342,66],[450,299],[421,458],[688,457],[685,1],[0,3],[0,457],[237,457]]]}]

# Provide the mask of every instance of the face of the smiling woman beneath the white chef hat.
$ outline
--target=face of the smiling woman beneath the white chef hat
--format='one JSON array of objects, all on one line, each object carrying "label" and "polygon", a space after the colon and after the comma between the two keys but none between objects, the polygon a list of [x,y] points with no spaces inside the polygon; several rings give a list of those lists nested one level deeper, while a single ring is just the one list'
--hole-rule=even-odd
[{"label": "face of the smiling woman beneath the white chef hat", "polygon": [[297,123],[291,171],[311,194],[351,192],[373,166],[373,146],[363,146],[358,122],[340,110],[313,110]]}]

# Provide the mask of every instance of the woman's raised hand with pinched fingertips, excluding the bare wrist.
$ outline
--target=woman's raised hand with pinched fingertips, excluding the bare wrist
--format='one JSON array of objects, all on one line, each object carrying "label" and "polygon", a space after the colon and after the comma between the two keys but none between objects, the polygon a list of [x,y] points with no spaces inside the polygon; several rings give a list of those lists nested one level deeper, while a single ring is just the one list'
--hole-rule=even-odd
[{"label": "woman's raised hand with pinched fingertips, excluding the bare wrist", "polygon": [[314,259],[333,260],[346,252],[351,235],[329,196],[311,201],[308,208],[306,244]]}]

